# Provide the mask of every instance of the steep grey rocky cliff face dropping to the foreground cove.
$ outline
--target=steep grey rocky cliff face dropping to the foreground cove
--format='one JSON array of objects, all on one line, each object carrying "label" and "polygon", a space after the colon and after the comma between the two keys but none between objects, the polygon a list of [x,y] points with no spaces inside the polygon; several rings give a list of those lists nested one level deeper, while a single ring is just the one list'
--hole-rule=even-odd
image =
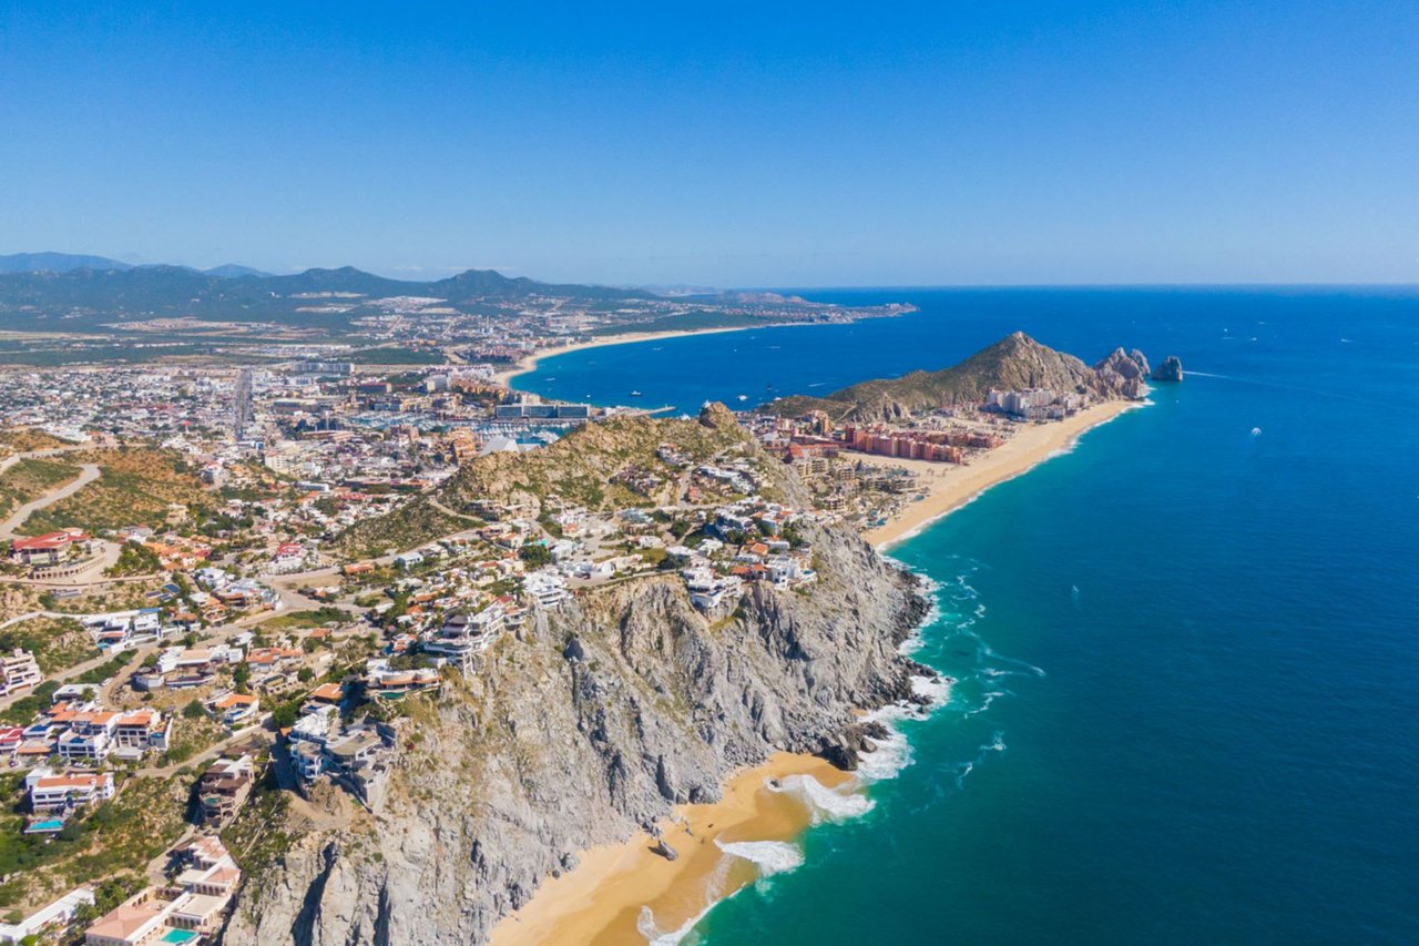
[{"label": "steep grey rocky cliff face dropping to the foreground cove", "polygon": [[379,815],[307,831],[248,881],[226,942],[482,942],[575,851],[775,749],[851,760],[853,709],[924,672],[897,648],[925,601],[857,535],[810,540],[817,587],[755,587],[714,624],[674,577],[539,612],[420,707]]}]

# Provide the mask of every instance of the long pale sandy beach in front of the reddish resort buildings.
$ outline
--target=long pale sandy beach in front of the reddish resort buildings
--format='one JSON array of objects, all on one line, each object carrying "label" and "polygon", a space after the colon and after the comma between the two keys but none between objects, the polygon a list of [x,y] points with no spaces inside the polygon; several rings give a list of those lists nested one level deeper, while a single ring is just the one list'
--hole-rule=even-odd
[{"label": "long pale sandy beach in front of the reddish resort buildings", "polygon": [[1015,436],[1003,446],[971,457],[971,463],[965,466],[844,453],[843,456],[854,460],[900,466],[918,473],[920,491],[927,496],[915,503],[908,503],[885,526],[870,530],[864,537],[878,548],[893,545],[915,534],[927,523],[961,509],[992,486],[1013,479],[1047,460],[1051,453],[1067,450],[1090,428],[1112,420],[1124,411],[1137,406],[1139,405],[1135,401],[1108,401],[1080,411],[1064,420],[1020,425]]}]

